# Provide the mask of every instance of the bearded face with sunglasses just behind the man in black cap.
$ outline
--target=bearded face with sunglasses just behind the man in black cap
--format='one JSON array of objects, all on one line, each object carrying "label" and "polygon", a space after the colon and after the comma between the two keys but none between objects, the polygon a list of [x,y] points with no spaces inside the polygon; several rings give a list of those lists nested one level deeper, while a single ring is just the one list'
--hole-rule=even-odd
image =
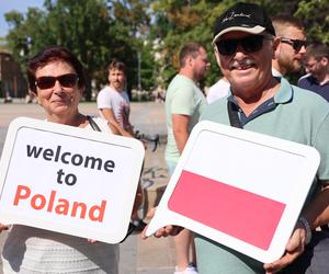
[{"label": "bearded face with sunglasses just behind the man in black cap", "polygon": [[304,31],[295,26],[287,26],[280,35],[280,38],[281,41],[275,50],[275,58],[280,68],[284,69],[284,72],[300,70],[302,58],[306,49],[305,46],[296,49],[297,45],[296,42],[294,44],[294,41],[306,41]]}]

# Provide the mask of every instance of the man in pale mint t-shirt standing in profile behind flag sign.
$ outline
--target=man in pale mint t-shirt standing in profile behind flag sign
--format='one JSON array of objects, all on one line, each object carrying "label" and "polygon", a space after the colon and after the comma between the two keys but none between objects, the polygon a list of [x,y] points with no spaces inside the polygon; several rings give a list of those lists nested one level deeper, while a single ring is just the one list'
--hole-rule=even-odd
[{"label": "man in pale mint t-shirt standing in profile behind flag sign", "polygon": [[[168,142],[166,161],[169,173],[174,167],[188,141],[190,132],[197,123],[201,111],[206,104],[197,82],[205,77],[209,66],[206,50],[197,43],[189,43],[180,52],[180,71],[170,82],[166,94],[166,118]],[[192,233],[184,229],[174,237],[177,267],[175,274],[195,274],[189,266],[189,251]],[[195,263],[195,259],[193,260]]]}]

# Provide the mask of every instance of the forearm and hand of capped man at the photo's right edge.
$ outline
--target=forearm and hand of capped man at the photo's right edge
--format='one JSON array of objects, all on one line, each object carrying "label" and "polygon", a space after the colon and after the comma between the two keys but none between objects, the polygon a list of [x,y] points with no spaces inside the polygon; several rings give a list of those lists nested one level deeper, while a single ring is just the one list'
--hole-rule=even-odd
[{"label": "forearm and hand of capped man at the photo's right edge", "polygon": [[[321,192],[302,213],[302,216],[308,221],[310,229],[329,222],[329,181],[322,182],[322,185]],[[305,241],[306,228],[303,224],[297,222],[286,246],[285,254],[273,263],[264,264],[266,273],[275,273],[295,261],[304,252]]]}]

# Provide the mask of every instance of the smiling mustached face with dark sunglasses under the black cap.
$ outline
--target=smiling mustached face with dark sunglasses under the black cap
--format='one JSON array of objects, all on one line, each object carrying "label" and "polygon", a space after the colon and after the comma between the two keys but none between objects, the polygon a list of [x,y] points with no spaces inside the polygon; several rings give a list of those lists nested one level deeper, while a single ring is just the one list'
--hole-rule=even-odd
[{"label": "smiling mustached face with dark sunglasses under the black cap", "polygon": [[[234,91],[252,91],[271,77],[272,41],[269,38],[261,39],[259,36],[256,37],[245,32],[228,32],[219,39],[224,45],[225,43],[228,45],[228,53],[220,54],[220,50],[215,49],[216,58]],[[236,43],[236,50],[229,53],[232,48],[230,45]]]}]

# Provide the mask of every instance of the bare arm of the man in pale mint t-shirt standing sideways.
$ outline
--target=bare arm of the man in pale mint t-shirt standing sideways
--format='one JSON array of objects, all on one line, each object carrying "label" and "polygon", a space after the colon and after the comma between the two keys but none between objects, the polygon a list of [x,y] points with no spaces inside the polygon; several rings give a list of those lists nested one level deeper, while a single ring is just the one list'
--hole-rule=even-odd
[{"label": "bare arm of the man in pale mint t-shirt standing sideways", "polygon": [[172,114],[172,132],[175,145],[180,153],[182,153],[189,139],[189,122],[191,116],[182,114]]}]

